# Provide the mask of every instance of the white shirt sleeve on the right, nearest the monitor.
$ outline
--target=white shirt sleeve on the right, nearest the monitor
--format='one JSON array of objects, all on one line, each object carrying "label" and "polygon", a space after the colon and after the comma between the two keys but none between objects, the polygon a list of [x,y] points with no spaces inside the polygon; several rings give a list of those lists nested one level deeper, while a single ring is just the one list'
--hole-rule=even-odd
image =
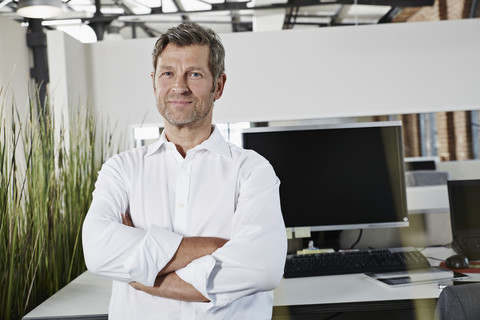
[{"label": "white shirt sleeve on the right, nearest the monitor", "polygon": [[177,275],[216,309],[241,297],[273,290],[283,276],[287,239],[279,180],[266,163],[242,182],[232,237],[211,256],[194,260]]}]

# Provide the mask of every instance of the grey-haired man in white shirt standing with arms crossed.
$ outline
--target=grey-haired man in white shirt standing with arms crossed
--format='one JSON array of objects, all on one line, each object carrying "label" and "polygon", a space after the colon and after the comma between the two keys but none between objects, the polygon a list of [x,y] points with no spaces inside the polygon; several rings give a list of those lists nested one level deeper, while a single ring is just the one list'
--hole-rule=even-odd
[{"label": "grey-haired man in white shirt standing with arms crossed", "polygon": [[270,319],[286,255],[279,181],[212,126],[226,82],[218,36],[162,35],[153,92],[165,130],[109,159],[83,226],[88,269],[113,279],[111,319]]}]

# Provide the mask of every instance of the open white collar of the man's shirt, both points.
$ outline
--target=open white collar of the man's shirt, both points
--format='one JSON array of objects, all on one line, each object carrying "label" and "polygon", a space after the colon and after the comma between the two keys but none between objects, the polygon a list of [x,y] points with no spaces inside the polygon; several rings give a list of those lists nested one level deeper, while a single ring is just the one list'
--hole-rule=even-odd
[{"label": "open white collar of the man's shirt, both points", "polygon": [[[168,143],[167,137],[165,136],[165,131],[162,132],[162,135],[160,138],[152,143],[151,145],[148,146],[147,153],[145,154],[145,158],[148,156],[151,156],[158,150],[162,148],[163,145]],[[193,148],[192,150],[209,150],[213,153],[216,153],[218,155],[227,157],[227,158],[232,158],[232,153],[230,151],[230,146],[228,143],[225,141],[223,138],[222,134],[220,133],[220,130],[218,130],[217,126],[213,125],[213,132],[210,135],[210,137],[203,141],[201,144]]]}]

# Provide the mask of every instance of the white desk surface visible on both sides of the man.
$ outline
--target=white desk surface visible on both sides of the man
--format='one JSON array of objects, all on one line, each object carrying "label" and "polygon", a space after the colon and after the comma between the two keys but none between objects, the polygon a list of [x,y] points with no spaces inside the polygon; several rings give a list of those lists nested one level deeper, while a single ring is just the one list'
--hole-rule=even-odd
[{"label": "white desk surface visible on both sides of the man", "polygon": [[[446,259],[451,249],[427,248],[426,257]],[[438,260],[430,260],[438,265]],[[108,313],[111,280],[85,272],[58,291],[23,319],[96,318]],[[390,288],[364,274],[282,279],[274,291],[274,306],[322,305],[436,299],[436,283]]]}]

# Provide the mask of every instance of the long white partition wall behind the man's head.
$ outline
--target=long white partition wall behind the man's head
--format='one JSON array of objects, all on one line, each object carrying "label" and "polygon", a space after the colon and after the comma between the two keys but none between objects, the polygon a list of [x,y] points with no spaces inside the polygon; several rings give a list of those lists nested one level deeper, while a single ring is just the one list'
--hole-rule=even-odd
[{"label": "long white partition wall behind the man's head", "polygon": [[[478,30],[480,19],[223,34],[227,84],[215,121],[478,109]],[[94,103],[121,126],[161,121],[154,42],[85,45]]]}]

